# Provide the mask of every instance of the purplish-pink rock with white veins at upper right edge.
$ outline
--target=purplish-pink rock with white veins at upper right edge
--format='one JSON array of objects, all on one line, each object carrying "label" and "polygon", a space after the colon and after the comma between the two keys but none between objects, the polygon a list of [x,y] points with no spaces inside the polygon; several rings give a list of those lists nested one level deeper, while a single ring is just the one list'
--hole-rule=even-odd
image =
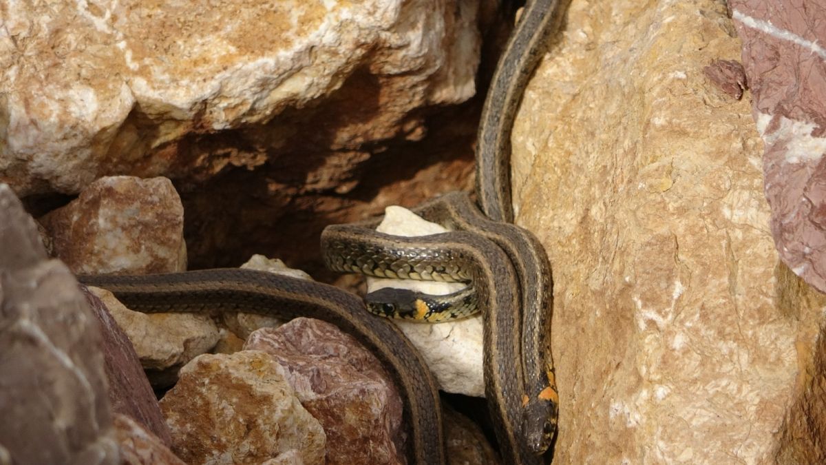
[{"label": "purplish-pink rock with white veins at upper right edge", "polygon": [[826,4],[731,0],[781,259],[826,292]]}]

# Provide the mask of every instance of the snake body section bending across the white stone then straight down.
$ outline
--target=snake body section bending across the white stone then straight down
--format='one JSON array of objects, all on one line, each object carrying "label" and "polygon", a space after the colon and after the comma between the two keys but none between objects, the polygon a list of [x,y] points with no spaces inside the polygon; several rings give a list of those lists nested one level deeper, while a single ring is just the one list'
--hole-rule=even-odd
[{"label": "snake body section bending across the white stone then straight down", "polygon": [[522,440],[520,320],[518,285],[510,260],[495,243],[472,232],[444,232],[422,237],[397,237],[362,225],[334,225],[321,233],[327,266],[334,271],[372,271],[408,258],[423,269],[468,276],[482,307],[485,397],[506,463],[542,463]]}]

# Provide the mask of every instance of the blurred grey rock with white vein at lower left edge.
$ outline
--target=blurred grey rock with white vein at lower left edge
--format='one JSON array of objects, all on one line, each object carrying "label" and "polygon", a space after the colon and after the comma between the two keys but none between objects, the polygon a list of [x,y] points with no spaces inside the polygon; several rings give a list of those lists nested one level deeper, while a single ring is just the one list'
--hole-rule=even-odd
[{"label": "blurred grey rock with white vein at lower left edge", "polygon": [[101,342],[77,281],[0,185],[0,460],[119,463]]}]

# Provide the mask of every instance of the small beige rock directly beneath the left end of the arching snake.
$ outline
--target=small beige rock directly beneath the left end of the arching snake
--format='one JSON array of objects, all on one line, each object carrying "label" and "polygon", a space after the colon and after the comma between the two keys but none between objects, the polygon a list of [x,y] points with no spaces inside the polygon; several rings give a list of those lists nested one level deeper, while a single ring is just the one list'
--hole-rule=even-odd
[{"label": "small beige rock directly beneath the left end of the arching snake", "polygon": [[147,370],[177,371],[192,358],[209,352],[218,342],[218,328],[206,314],[144,314],[121,304],[111,292],[89,290],[106,304]]}]

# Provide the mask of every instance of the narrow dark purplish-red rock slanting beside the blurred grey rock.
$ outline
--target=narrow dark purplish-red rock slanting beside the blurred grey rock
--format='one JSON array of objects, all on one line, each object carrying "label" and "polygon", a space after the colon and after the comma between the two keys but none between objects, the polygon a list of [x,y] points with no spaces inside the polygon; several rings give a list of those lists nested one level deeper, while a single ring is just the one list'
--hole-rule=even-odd
[{"label": "narrow dark purplish-red rock slanting beside the blurred grey rock", "polygon": [[[135,419],[143,428],[152,434],[161,443],[169,445],[172,438],[166,426],[164,415],[160,412],[158,399],[155,397],[140,365],[138,354],[126,333],[109,314],[106,304],[93,294],[86,286],[81,286],[83,295],[92,313],[101,325],[103,336],[103,359],[105,362],[107,380],[109,381],[109,401],[116,414],[126,415]],[[111,295],[111,294],[110,294]],[[118,419],[115,420],[118,428]]]}]

